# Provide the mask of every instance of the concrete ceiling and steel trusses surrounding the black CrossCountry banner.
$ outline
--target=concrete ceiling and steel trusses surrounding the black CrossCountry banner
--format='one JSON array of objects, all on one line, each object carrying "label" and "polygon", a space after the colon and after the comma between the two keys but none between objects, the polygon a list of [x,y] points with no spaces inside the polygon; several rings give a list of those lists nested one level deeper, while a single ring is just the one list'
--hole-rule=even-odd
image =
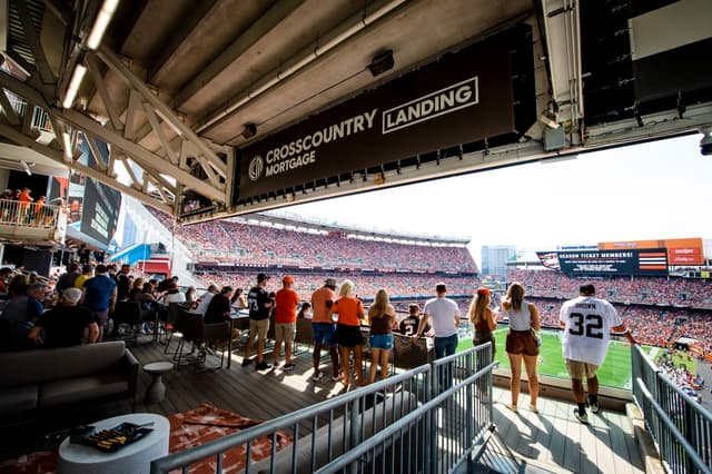
[{"label": "concrete ceiling and steel trusses surrounding the black CrossCountry banner", "polygon": [[[36,146],[32,124],[12,113],[0,121],[0,135],[174,215],[179,214],[179,198],[188,189],[216,205],[212,214],[201,218],[286,204],[233,206],[235,147],[523,19],[535,31],[537,111],[551,103],[553,95],[568,103],[571,110],[562,112],[560,121],[572,121],[574,132],[583,117],[576,115],[583,107],[575,96],[583,76],[575,63],[577,23],[572,27],[573,37],[562,30],[563,21],[554,23],[564,17],[562,12],[573,12],[566,21],[577,22],[575,2],[570,0],[120,0],[101,47],[91,50],[87,37],[102,4],[100,0],[0,0],[3,51],[12,63],[11,73],[0,75],[0,86],[40,107],[51,118],[56,140]],[[541,32],[545,40],[538,39]],[[557,48],[547,49],[546,41]],[[395,66],[374,77],[367,67],[386,50],[393,51]],[[548,61],[551,51],[568,52]],[[563,79],[552,78],[555,60],[568,61],[570,69],[557,69],[563,70]],[[72,106],[63,108],[60,102],[78,63],[89,72]],[[256,135],[246,138],[248,124],[256,126]],[[538,126],[528,131],[528,138],[541,138]],[[622,125],[621,132],[629,128]],[[76,140],[77,131],[110,144],[107,162],[83,169],[72,160],[61,135]],[[552,154],[541,142],[517,145],[486,160],[478,157],[476,164],[461,157],[449,168],[398,172],[389,182]],[[128,179],[119,181],[117,175]],[[364,179],[336,190],[305,190],[304,199],[376,186]]]}]

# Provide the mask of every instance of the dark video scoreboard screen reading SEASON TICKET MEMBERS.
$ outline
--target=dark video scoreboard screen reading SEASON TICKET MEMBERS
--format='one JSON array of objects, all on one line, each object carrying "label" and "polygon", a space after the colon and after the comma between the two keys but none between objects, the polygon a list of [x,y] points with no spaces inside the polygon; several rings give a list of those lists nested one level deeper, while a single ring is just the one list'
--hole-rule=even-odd
[{"label": "dark video scoreboard screen reading SEASON TICKET MEMBERS", "polygon": [[666,276],[665,248],[639,250],[537,251],[542,265],[568,276]]}]

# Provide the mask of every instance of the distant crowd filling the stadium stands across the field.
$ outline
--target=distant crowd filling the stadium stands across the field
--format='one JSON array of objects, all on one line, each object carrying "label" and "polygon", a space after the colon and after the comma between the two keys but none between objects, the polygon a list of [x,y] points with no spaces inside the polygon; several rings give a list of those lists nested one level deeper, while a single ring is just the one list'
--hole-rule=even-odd
[{"label": "distant crowd filling the stadium stands across the field", "polygon": [[[165,215],[155,214],[170,226]],[[205,286],[250,288],[255,271],[240,270],[240,266],[261,266],[267,273],[273,268],[275,282],[286,274],[280,267],[300,267],[303,273],[287,273],[295,276],[295,289],[301,295],[319,288],[326,277],[350,279],[364,300],[370,300],[379,288],[385,288],[396,309],[407,313],[408,303],[431,297],[436,283],[442,280],[465,314],[474,289],[481,285],[472,256],[463,247],[362,240],[236,221],[181,227],[177,237],[194,251],[194,257],[205,260],[198,265],[204,270],[196,274]],[[225,266],[237,270],[221,270]],[[316,269],[325,267],[334,269]],[[525,286],[528,299],[540,309],[542,325],[553,328],[558,327],[561,304],[575,296],[582,283],[560,271],[525,269],[508,271],[507,280]],[[705,329],[712,322],[709,280],[611,277],[596,279],[595,285],[597,295],[616,306],[642,343],[668,347],[679,337],[688,336],[699,339],[704,353],[712,353],[712,336]],[[496,305],[498,297],[493,302]]]}]

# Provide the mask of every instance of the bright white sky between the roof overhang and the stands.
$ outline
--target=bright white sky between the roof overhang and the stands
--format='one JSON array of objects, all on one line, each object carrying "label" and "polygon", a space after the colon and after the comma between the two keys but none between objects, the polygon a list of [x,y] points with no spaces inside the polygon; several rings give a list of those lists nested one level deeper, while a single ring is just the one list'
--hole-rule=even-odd
[{"label": "bright white sky between the roof overhang and the stands", "polygon": [[712,238],[701,135],[443,178],[286,208],[304,216],[520,248]]}]

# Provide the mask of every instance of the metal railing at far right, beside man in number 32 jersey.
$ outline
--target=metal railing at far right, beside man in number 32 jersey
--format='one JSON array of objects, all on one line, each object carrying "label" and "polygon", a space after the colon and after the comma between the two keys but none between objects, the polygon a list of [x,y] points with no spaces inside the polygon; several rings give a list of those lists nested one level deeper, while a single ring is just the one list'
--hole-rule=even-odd
[{"label": "metal railing at far right, beside man in number 32 jersey", "polygon": [[632,348],[633,398],[663,466],[671,473],[712,473],[712,414]]}]

